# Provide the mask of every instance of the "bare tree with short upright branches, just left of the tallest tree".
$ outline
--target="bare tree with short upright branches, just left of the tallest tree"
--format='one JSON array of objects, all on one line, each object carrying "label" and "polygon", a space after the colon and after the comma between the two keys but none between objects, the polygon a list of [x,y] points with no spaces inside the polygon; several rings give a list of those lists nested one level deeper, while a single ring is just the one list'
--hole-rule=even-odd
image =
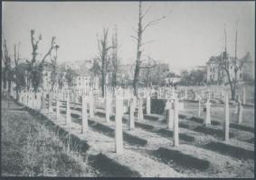
[{"label": "bare tree with short upright branches, just left of the tallest tree", "polygon": [[104,96],[104,86],[106,85],[106,76],[109,69],[109,49],[113,46],[109,45],[109,29],[104,28],[101,39],[98,40],[98,48],[100,56],[98,58],[100,63],[100,73],[101,73],[101,94]]}]

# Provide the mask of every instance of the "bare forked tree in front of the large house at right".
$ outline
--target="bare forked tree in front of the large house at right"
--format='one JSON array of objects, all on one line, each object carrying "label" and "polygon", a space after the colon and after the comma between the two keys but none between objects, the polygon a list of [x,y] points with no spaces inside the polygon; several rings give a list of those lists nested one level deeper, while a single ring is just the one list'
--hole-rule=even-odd
[{"label": "bare forked tree in front of the large house at right", "polygon": [[[249,54],[246,54],[246,56],[240,60],[237,58],[237,30],[235,31],[235,56],[232,60],[229,60],[228,52],[227,52],[227,35],[226,30],[224,28],[224,39],[225,39],[225,49],[223,51],[223,55],[220,57],[221,61],[221,68],[224,70],[224,72],[227,75],[228,78],[228,84],[231,88],[231,94],[232,94],[232,100],[235,100],[236,95],[236,85],[237,85],[237,73],[240,69],[242,69],[242,66],[246,62],[246,60],[249,58]],[[233,68],[230,68],[230,63],[232,63]],[[233,72],[234,76],[232,78],[231,73]]]}]

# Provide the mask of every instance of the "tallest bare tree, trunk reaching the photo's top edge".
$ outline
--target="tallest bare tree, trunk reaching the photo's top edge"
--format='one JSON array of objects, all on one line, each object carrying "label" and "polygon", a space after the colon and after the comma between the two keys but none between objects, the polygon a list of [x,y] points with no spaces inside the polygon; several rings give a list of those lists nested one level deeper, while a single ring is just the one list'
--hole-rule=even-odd
[{"label": "tallest bare tree, trunk reaching the photo's top edge", "polygon": [[156,23],[159,23],[162,19],[166,18],[166,16],[162,16],[162,17],[152,20],[149,23],[146,23],[144,25],[143,20],[150,9],[151,9],[151,6],[148,7],[147,10],[143,13],[142,8],[141,8],[141,1],[139,1],[138,23],[137,23],[137,30],[136,30],[137,37],[131,36],[132,38],[137,40],[137,58],[136,58],[136,67],[135,67],[134,79],[133,79],[133,88],[134,88],[135,95],[137,95],[137,83],[138,83],[139,69],[140,69],[140,64],[141,64],[140,58],[141,58],[142,51],[143,51],[142,46],[152,41],[151,40],[151,41],[147,41],[147,42],[143,43],[142,42],[143,33],[147,30],[147,28],[151,27],[152,25],[155,25]]}]

